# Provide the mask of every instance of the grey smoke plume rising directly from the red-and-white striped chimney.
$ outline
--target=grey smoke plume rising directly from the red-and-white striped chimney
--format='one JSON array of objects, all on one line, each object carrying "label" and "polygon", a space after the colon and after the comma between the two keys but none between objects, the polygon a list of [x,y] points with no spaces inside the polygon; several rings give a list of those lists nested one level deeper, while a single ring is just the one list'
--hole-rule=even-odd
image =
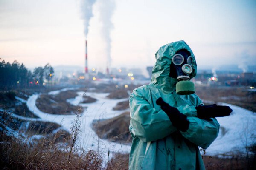
[{"label": "grey smoke plume rising directly from the red-and-white striped chimney", "polygon": [[87,38],[90,18],[93,17],[93,4],[96,0],[81,0],[82,19],[84,20],[84,35]]}]

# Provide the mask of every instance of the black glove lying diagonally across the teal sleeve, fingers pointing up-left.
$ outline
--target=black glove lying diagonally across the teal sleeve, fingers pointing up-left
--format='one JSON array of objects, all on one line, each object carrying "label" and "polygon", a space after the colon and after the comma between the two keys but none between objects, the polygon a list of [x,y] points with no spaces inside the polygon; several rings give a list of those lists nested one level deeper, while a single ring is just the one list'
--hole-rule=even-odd
[{"label": "black glove lying diagonally across the teal sleeve, fingers pointing up-left", "polygon": [[161,106],[161,109],[167,114],[172,125],[176,127],[178,130],[182,132],[186,132],[189,128],[189,121],[186,115],[180,113],[177,108],[170,106],[168,103],[164,102],[163,99],[160,97],[157,99],[157,105]]}]

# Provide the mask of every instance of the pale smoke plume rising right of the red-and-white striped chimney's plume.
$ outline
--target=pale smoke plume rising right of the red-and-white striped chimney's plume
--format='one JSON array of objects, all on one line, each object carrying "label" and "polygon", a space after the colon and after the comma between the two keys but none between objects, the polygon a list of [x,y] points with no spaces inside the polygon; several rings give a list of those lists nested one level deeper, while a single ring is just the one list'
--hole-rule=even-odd
[{"label": "pale smoke plume rising right of the red-and-white striped chimney's plume", "polygon": [[102,39],[105,42],[105,53],[107,59],[107,67],[111,67],[111,30],[113,23],[111,17],[116,5],[114,0],[99,0],[99,19],[102,23]]}]

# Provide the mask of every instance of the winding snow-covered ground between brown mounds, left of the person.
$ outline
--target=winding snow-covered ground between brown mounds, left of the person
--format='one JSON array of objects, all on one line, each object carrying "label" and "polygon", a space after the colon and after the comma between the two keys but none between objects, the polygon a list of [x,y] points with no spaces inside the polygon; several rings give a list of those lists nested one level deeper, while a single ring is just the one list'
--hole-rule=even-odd
[{"label": "winding snow-covered ground between brown mounds, left of the person", "polygon": [[[63,91],[63,90],[62,90]],[[58,94],[58,91],[49,94]],[[78,96],[74,99],[68,99],[73,105],[81,105],[84,112],[81,113],[81,133],[77,142],[77,147],[84,148],[85,150],[100,150],[103,155],[105,155],[105,160],[108,159],[108,152],[110,157],[113,152],[128,153],[130,151],[130,145],[124,145],[116,142],[109,142],[108,140],[99,139],[96,133],[91,128],[93,120],[99,119],[110,119],[112,117],[118,116],[120,111],[113,111],[112,108],[116,106],[118,102],[122,102],[126,99],[108,99],[108,93],[91,93],[91,92],[78,92]],[[62,125],[66,130],[70,130],[73,126],[73,122],[76,119],[76,115],[53,115],[40,111],[36,105],[36,99],[40,94],[34,94],[29,96],[27,101],[27,106],[30,111],[39,116],[43,121],[55,122]],[[91,96],[97,99],[96,102],[90,104],[81,104],[83,95]]]}]

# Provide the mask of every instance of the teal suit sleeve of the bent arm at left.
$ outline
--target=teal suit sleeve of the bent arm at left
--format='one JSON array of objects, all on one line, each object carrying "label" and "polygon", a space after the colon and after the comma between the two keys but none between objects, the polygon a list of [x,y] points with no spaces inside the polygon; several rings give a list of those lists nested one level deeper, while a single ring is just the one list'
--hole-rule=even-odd
[{"label": "teal suit sleeve of the bent arm at left", "polygon": [[143,142],[156,141],[177,131],[164,111],[156,110],[136,89],[130,96],[130,131]]}]

